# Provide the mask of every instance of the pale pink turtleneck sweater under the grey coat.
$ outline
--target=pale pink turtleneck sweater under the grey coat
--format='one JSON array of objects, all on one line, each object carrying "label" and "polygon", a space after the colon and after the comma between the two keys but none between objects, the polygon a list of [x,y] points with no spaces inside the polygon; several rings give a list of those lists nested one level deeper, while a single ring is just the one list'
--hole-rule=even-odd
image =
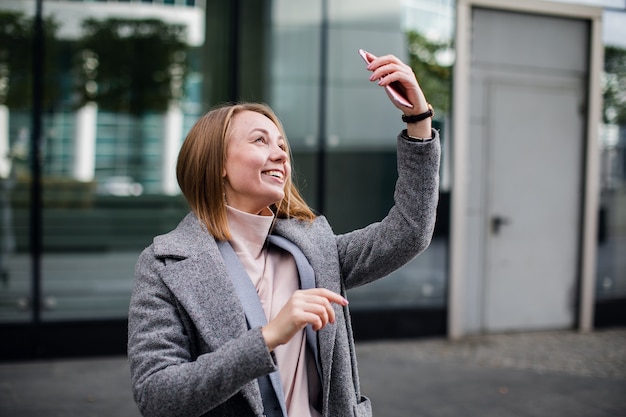
[{"label": "pale pink turtleneck sweater under the grey coat", "polygon": [[[269,209],[263,215],[254,215],[230,206],[226,208],[232,236],[230,244],[252,280],[265,316],[270,321],[291,294],[300,288],[296,263],[289,252],[274,246],[268,248],[267,235],[274,221]],[[320,382],[315,360],[306,348],[304,330],[287,344],[276,347],[274,354],[285,393],[287,414],[320,417],[313,407],[318,402]]]}]

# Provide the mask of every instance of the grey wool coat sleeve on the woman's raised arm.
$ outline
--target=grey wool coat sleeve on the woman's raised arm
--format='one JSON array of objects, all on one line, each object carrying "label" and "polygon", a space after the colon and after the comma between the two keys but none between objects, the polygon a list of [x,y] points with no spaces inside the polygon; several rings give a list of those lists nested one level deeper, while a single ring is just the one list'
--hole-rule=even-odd
[{"label": "grey wool coat sleeve on the woman's raised arm", "polygon": [[382,278],[424,251],[432,239],[439,199],[439,134],[429,142],[398,135],[394,206],[380,222],[337,236],[346,288]]}]

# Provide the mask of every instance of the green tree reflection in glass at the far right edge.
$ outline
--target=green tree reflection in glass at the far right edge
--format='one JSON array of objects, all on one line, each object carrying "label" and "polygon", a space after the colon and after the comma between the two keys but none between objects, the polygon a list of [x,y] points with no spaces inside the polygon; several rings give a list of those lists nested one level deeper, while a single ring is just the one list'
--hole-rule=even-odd
[{"label": "green tree reflection in glass at the far right edge", "polygon": [[606,46],[603,121],[626,125],[626,49]]}]

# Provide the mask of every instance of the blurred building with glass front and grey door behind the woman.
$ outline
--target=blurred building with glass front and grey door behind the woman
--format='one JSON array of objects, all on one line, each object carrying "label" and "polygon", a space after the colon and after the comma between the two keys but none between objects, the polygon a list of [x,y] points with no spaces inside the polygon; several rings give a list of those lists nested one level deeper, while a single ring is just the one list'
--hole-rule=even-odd
[{"label": "blurred building with glass front and grey door behind the woman", "polygon": [[[626,2],[527,3],[533,8],[490,15],[489,1],[461,9],[453,0],[0,0],[0,358],[125,352],[135,261],[153,236],[174,228],[187,213],[175,161],[189,128],[214,105],[252,100],[274,108],[289,135],[306,200],[337,233],[384,217],[393,204],[395,137],[403,126],[399,111],[367,80],[359,48],[410,63],[435,107],[443,155],[433,243],[392,276],[351,290],[356,337],[623,325]],[[459,16],[459,10],[471,10],[471,16]],[[546,266],[566,252],[563,242],[531,249],[548,236],[571,241],[565,281],[552,272],[525,280],[519,267],[518,275],[500,279],[488,254],[511,248],[494,236],[524,223],[495,218],[489,212],[492,188],[473,183],[502,176],[488,163],[494,148],[482,140],[491,133],[475,129],[481,113],[455,112],[455,99],[463,97],[457,88],[468,84],[454,75],[465,64],[457,61],[457,52],[465,51],[459,50],[457,28],[461,21],[490,28],[514,14],[511,22],[525,30],[539,24],[534,18],[545,10],[557,10],[549,19],[558,16],[557,24],[544,22],[556,27],[546,34],[555,41],[544,45],[544,53],[555,60],[552,70],[567,74],[563,82],[576,84],[583,97],[576,110],[582,117],[579,142],[574,142],[578,153],[563,153],[576,159],[573,172],[580,169],[580,176],[569,181],[572,167],[557,148],[542,174],[565,177],[565,191],[552,186],[539,194],[540,201],[518,207],[537,212],[552,204],[550,198],[574,201],[574,220],[586,226],[575,226],[569,235],[532,223],[532,240],[518,239],[513,249],[526,256],[527,265]],[[589,14],[572,15],[572,10]],[[596,28],[601,31],[594,33]],[[580,68],[560,58],[573,42],[569,37],[558,43],[563,31],[582,40],[576,47],[580,55],[572,52]],[[471,33],[489,39],[484,31]],[[598,36],[600,55],[593,47]],[[532,55],[532,44],[514,49],[502,42],[506,53],[499,54],[497,43],[480,52],[486,62],[510,62],[516,73],[528,67],[514,62],[516,56]],[[470,47],[470,53],[477,51]],[[600,71],[594,71],[598,57]],[[466,69],[471,72],[456,77],[471,74],[470,86],[486,79],[484,72]],[[554,85],[546,80],[543,85]],[[481,97],[462,108],[483,108],[487,101]],[[517,102],[506,95],[501,99]],[[585,104],[591,102],[601,104],[597,114]],[[466,141],[458,136],[464,116],[471,132]],[[550,131],[558,132],[563,119],[556,113],[552,119],[556,127],[550,124]],[[589,133],[590,127],[600,133]],[[532,128],[529,124],[522,137],[533,135]],[[480,137],[472,137],[477,132]],[[490,143],[512,149],[520,130],[515,132],[513,139]],[[542,152],[533,146],[530,154]],[[468,156],[469,184],[458,180],[466,168],[458,155]],[[597,172],[590,161],[597,162]],[[532,170],[533,164],[528,160],[526,166]],[[589,201],[593,210],[585,205]],[[453,221],[459,210],[466,216],[467,233],[461,235]],[[462,260],[455,248],[462,249]],[[590,260],[589,273],[585,262]],[[496,281],[503,292],[489,284]],[[555,287],[555,282],[565,284]],[[585,292],[589,282],[593,288]],[[519,294],[526,306],[499,294],[510,300]],[[585,312],[588,294],[591,310]],[[528,297],[558,305],[564,317],[534,307]],[[489,312],[494,299],[505,305]],[[516,319],[494,321],[503,309]],[[527,313],[532,310],[546,320],[533,320]],[[585,325],[585,320],[591,322]]]}]

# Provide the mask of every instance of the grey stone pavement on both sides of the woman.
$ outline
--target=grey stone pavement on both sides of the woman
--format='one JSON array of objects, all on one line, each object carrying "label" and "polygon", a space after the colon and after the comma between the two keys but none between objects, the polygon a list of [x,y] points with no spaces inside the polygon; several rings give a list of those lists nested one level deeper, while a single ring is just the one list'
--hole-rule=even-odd
[{"label": "grey stone pavement on both sides of the woman", "polygon": [[[357,344],[377,417],[626,416],[626,328]],[[126,358],[0,363],[1,417],[135,417]],[[344,416],[337,416],[344,417]]]}]

